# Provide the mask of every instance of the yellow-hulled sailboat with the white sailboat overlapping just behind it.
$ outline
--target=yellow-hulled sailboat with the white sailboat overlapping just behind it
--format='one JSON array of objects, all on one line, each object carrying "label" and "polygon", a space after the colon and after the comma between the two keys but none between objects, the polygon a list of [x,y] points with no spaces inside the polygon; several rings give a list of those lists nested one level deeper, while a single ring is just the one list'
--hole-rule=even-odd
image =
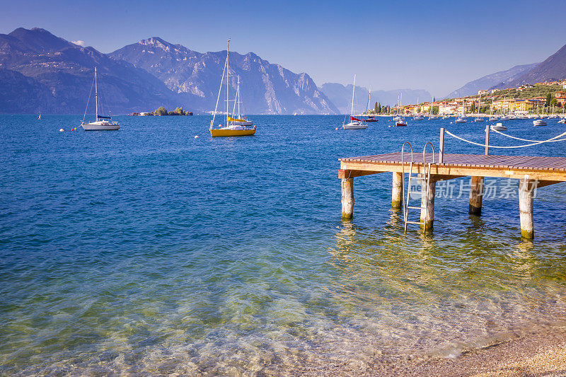
[{"label": "yellow-hulled sailboat with the white sailboat overlapping just behind it", "polygon": [[[229,112],[229,51],[230,40],[228,40],[228,47],[226,48],[226,62],[224,63],[224,71],[222,72],[222,79],[220,81],[220,89],[218,91],[218,98],[216,98],[216,108],[210,121],[210,135],[212,137],[233,137],[233,136],[252,136],[255,134],[255,126],[253,122],[246,117],[240,115],[240,77],[238,76],[238,87],[236,89],[236,98],[233,99],[234,107],[232,114],[236,113],[236,103],[238,103],[238,117],[231,117]],[[224,83],[224,76],[226,76],[226,122],[219,124],[218,128],[214,128],[214,120],[216,119],[216,110],[218,110],[218,103],[220,100],[220,92]]]}]

